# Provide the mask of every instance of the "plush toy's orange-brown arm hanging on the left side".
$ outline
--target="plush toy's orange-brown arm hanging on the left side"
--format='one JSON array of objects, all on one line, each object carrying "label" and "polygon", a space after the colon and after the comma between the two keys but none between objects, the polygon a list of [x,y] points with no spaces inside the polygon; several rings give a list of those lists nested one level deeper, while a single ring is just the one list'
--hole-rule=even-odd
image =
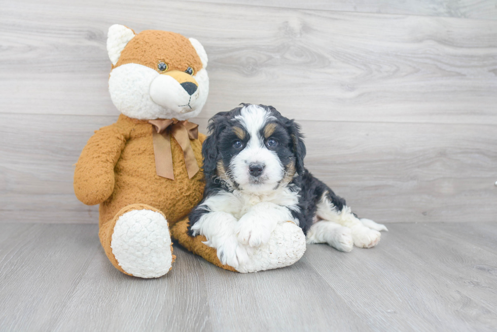
[{"label": "plush toy's orange-brown arm hanging on the left side", "polygon": [[116,126],[97,130],[81,152],[74,172],[76,197],[86,205],[99,204],[114,191],[114,167],[126,144]]}]

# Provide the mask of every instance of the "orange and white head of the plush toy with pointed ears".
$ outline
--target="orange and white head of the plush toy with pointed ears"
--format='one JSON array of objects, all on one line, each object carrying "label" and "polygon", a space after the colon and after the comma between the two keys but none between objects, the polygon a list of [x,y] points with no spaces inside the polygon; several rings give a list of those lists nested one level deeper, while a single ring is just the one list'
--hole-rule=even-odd
[{"label": "orange and white head of the plush toy with pointed ears", "polygon": [[207,54],[193,38],[160,30],[135,34],[109,28],[111,99],[127,117],[187,120],[197,116],[209,93]]}]

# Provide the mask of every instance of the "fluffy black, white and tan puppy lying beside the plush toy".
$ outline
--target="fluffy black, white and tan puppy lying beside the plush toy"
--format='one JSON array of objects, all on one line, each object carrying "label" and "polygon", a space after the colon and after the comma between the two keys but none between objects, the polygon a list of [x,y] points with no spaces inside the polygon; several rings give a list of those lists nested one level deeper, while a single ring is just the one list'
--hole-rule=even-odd
[{"label": "fluffy black, white and tan puppy lying beside the plush toy", "polygon": [[234,268],[289,220],[307,243],[341,251],[375,246],[386,227],[359,219],[304,168],[300,126],[272,106],[241,105],[209,121],[202,146],[205,192],[189,215],[190,234],[204,235],[220,261]]}]

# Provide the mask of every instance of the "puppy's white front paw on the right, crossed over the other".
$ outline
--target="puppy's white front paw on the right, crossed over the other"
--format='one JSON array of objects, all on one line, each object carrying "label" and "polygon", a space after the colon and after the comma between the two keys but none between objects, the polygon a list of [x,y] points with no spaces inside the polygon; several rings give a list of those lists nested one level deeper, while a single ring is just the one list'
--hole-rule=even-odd
[{"label": "puppy's white front paw on the right, crossed over the other", "polygon": [[238,220],[235,233],[240,243],[258,247],[269,241],[272,231],[269,223],[264,223],[263,220],[245,214]]}]

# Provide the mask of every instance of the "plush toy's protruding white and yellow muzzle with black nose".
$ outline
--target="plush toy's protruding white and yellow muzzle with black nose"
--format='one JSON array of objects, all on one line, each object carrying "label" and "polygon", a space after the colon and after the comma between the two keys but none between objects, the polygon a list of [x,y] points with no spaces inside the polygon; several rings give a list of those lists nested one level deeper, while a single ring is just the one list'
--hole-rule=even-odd
[{"label": "plush toy's protruding white and yellow muzzle with black nose", "polygon": [[152,100],[177,113],[190,112],[199,95],[195,78],[179,70],[165,72],[150,84]]}]

